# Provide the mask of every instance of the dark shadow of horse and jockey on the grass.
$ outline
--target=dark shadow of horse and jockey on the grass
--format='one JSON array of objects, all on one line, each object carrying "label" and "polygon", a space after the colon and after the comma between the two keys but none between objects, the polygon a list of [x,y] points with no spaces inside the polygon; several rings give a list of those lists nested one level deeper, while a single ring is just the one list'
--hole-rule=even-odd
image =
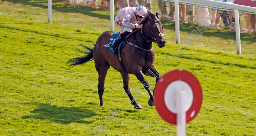
[{"label": "dark shadow of horse and jockey on the grass", "polygon": [[30,111],[32,115],[23,116],[22,119],[40,119],[49,120],[60,124],[69,124],[72,122],[89,124],[92,121],[86,121],[85,118],[95,116],[93,111],[84,109],[84,107],[57,107],[45,103],[33,103],[38,108]]}]

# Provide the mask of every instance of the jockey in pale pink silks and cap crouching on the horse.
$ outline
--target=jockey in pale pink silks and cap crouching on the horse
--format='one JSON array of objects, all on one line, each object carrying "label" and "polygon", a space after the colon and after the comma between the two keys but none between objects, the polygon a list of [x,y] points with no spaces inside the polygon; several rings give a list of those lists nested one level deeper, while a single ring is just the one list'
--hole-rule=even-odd
[{"label": "jockey in pale pink silks and cap crouching on the horse", "polygon": [[137,23],[143,20],[147,13],[148,10],[144,6],[125,7],[120,9],[115,18],[115,24],[123,33],[109,48],[114,51],[117,45],[119,45],[130,32],[132,32],[133,28],[142,28],[143,25],[138,25]]}]

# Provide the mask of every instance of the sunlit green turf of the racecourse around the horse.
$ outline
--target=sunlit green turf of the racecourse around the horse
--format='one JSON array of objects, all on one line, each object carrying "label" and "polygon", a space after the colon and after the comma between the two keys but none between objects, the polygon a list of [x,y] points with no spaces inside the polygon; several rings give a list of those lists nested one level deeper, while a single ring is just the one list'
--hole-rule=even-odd
[{"label": "sunlit green turf of the racecourse around the horse", "polygon": [[[75,57],[76,45],[92,46],[110,29],[110,12],[60,2],[52,9],[48,24],[47,0],[0,0],[0,134],[175,136],[176,126],[148,106],[145,89],[136,98],[141,110],[124,102],[123,80],[113,68],[100,107],[94,61],[72,69],[65,65]],[[165,69],[158,61],[178,45],[175,24],[161,22],[167,44],[154,47],[159,73],[183,68],[197,77],[203,90],[202,108],[187,124],[187,135],[255,136],[256,36],[241,34],[242,55],[236,55],[234,32],[205,29],[201,40],[182,50],[173,63],[167,61]],[[181,41],[196,27],[180,24]],[[131,75],[131,90],[138,85]],[[108,115],[117,106],[123,111],[116,110],[119,114],[111,121]]]}]

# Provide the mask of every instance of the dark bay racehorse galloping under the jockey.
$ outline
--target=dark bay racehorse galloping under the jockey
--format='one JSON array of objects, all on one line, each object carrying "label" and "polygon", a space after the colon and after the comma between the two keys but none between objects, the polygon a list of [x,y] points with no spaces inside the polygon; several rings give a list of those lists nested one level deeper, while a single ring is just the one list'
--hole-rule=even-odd
[{"label": "dark bay racehorse galloping under the jockey", "polygon": [[140,28],[141,30],[134,32],[127,39],[127,41],[132,44],[135,42],[137,47],[133,50],[132,45],[125,43],[125,46],[121,49],[121,57],[127,73],[121,67],[118,58],[103,46],[110,42],[110,37],[114,33],[112,31],[103,32],[94,44],[94,48],[81,45],[85,48],[85,50],[78,50],[85,55],[77,56],[76,58],[72,58],[66,62],[66,64],[69,64],[69,66],[73,67],[94,59],[95,68],[98,72],[98,95],[100,97],[100,106],[103,106],[102,96],[105,89],[105,78],[110,66],[121,73],[123,78],[123,88],[128,94],[130,101],[134,105],[134,109],[140,109],[141,107],[133,98],[133,95],[130,92],[130,74],[134,74],[136,78],[144,85],[144,88],[148,91],[150,97],[148,104],[150,106],[155,106],[153,95],[154,91],[152,94],[150,90],[150,84],[144,78],[144,75],[155,77],[156,82],[161,78],[161,75],[158,73],[155,65],[153,64],[155,59],[155,52],[152,47],[152,42],[157,43],[158,47],[162,48],[165,46],[166,41],[163,34],[163,25],[159,21],[158,13],[155,15],[151,12],[148,12],[147,16],[144,17],[144,20],[141,22],[141,24],[143,24],[143,27]]}]

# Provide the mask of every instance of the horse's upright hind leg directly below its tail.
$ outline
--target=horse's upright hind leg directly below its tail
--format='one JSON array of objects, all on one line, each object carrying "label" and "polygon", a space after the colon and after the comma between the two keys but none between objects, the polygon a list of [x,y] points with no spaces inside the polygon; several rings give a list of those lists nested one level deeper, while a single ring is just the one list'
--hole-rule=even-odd
[{"label": "horse's upright hind leg directly below its tail", "polygon": [[103,96],[103,93],[104,93],[104,84],[105,84],[105,79],[106,79],[106,75],[107,75],[107,72],[108,72],[108,68],[110,67],[110,65],[107,63],[107,61],[104,61],[105,62],[102,62],[103,60],[99,60],[97,61],[97,59],[94,60],[94,63],[95,63],[95,68],[98,72],[98,94],[99,94],[99,97],[100,97],[100,106],[103,106],[103,99],[102,99],[102,96]]}]

